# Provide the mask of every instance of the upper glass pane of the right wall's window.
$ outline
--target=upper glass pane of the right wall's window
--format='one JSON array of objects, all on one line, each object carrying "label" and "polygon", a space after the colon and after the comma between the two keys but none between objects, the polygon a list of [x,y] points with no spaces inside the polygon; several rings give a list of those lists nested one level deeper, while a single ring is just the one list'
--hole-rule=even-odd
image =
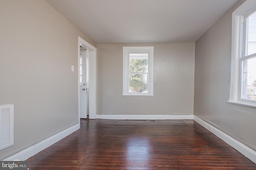
[{"label": "upper glass pane of the right wall's window", "polygon": [[256,12],[248,17],[247,55],[256,53]]}]

